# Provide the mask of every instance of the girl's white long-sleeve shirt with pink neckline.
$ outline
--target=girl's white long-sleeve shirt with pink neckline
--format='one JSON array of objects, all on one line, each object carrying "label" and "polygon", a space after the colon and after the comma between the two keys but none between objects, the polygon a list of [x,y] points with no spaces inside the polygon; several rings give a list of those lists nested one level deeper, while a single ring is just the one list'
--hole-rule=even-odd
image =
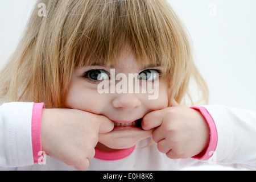
[{"label": "girl's white long-sleeve shirt with pink neckline", "polygon": [[[13,102],[0,106],[0,170],[75,170],[46,156],[34,164],[31,119],[34,103]],[[167,158],[151,138],[121,152],[101,154],[90,160],[88,170],[179,170],[213,161],[233,167],[256,169],[256,113],[222,105],[204,106],[217,129],[217,146],[209,160]],[[209,154],[210,155],[210,154]]]}]

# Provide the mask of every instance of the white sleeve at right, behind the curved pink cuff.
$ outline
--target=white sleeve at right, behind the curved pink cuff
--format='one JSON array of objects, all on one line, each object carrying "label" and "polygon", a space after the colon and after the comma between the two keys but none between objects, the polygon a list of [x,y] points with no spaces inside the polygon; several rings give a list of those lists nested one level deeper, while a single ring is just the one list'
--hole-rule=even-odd
[{"label": "white sleeve at right, behind the curved pink cuff", "polygon": [[217,164],[256,169],[256,112],[222,105],[204,107],[217,129]]}]

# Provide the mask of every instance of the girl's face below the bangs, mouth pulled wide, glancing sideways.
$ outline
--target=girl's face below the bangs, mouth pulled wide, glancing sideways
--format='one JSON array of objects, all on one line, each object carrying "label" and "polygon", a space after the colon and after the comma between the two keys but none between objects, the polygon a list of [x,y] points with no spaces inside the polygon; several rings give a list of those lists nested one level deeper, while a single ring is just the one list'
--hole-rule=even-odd
[{"label": "girl's face below the bangs, mouth pulled wide, glancing sideways", "polygon": [[[161,77],[164,68],[139,65],[128,48],[114,63],[111,67],[93,65],[75,69],[65,102],[65,107],[104,115],[115,123],[110,133],[99,135],[99,146],[102,150],[103,144],[106,151],[109,148],[119,150],[133,147],[140,140],[150,137],[152,130],[145,131],[139,126],[141,119],[151,111],[168,107],[168,81]],[[129,90],[129,86],[135,88],[130,84],[129,73],[138,74],[135,77],[139,80],[139,92]],[[159,73],[159,79],[156,73]],[[117,75],[122,78],[115,77]],[[114,84],[110,84],[110,78],[115,78]],[[102,88],[109,93],[102,93]],[[151,93],[142,90],[151,90]],[[149,99],[148,96],[153,94],[154,99]]]}]

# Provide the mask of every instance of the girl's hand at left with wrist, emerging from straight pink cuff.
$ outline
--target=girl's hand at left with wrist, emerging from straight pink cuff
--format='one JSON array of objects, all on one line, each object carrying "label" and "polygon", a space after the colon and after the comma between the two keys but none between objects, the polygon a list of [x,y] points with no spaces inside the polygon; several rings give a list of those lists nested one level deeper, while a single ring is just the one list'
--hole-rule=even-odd
[{"label": "girl's hand at left with wrist, emerging from straight pink cuff", "polygon": [[75,109],[43,109],[42,150],[79,170],[89,167],[99,133],[113,130],[114,123],[102,115]]}]

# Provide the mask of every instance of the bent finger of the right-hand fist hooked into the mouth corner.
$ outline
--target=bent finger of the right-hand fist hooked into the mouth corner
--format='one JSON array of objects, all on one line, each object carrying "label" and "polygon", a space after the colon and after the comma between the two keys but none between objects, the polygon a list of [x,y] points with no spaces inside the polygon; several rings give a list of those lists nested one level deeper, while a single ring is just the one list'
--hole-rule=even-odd
[{"label": "bent finger of the right-hand fist hooked into the mouth corner", "polygon": [[155,127],[162,125],[163,122],[163,111],[156,110],[151,113],[146,114],[141,122],[141,126],[143,130],[151,130]]}]

